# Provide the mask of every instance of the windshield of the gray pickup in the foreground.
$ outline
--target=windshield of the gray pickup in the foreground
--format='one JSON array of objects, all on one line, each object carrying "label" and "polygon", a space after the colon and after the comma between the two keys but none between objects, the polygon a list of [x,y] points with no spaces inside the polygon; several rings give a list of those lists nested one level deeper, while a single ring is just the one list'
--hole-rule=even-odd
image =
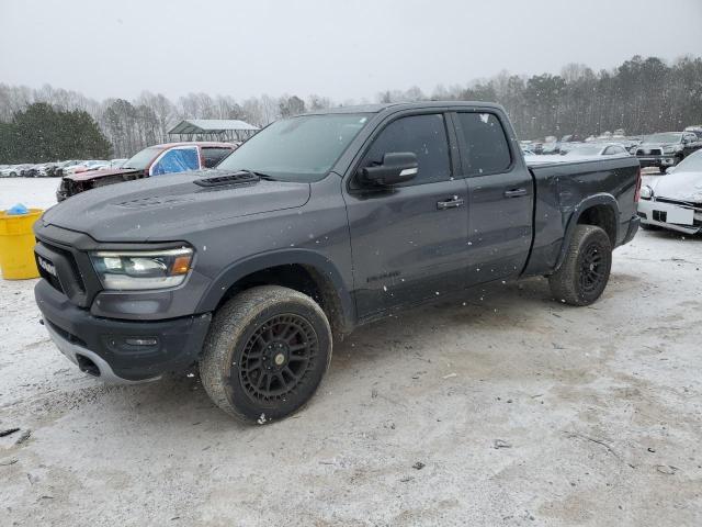
[{"label": "windshield of the gray pickup in the foreground", "polygon": [[366,122],[363,113],[283,119],[251,137],[217,168],[251,170],[283,181],[318,181]]}]

